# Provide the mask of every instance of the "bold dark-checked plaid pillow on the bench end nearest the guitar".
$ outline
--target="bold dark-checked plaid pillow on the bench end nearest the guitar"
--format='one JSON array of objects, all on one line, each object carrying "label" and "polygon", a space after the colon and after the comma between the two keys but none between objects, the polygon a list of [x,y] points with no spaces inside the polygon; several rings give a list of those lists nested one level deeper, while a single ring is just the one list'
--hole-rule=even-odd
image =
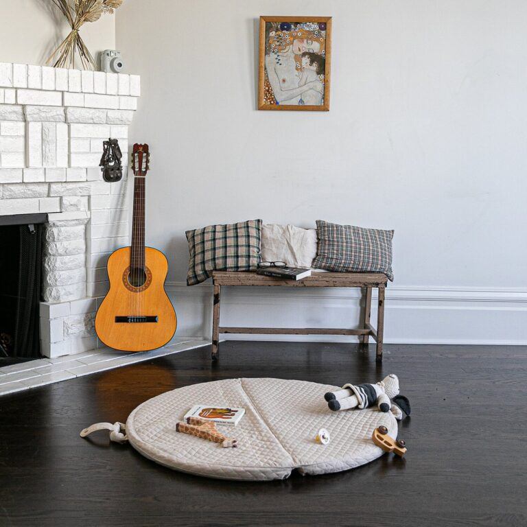
[{"label": "bold dark-checked plaid pillow on the bench end nearest the guitar", "polygon": [[187,231],[187,285],[207,280],[212,271],[255,271],[260,259],[260,233],[261,220]]}]

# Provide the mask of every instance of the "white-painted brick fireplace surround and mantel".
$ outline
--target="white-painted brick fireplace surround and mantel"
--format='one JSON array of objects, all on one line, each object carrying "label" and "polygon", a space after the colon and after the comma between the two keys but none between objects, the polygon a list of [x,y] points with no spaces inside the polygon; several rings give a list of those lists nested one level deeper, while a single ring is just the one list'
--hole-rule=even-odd
[{"label": "white-painted brick fireplace surround and mantel", "polygon": [[[41,353],[97,347],[106,259],[128,245],[128,125],[138,75],[0,62],[0,215],[47,213]],[[124,177],[102,179],[102,141],[119,139]]]}]

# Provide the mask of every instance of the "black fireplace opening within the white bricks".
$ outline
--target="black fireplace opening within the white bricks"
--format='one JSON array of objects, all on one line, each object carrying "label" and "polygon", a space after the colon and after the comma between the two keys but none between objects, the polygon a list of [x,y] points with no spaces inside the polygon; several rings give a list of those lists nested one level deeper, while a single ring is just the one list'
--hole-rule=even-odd
[{"label": "black fireplace opening within the white bricks", "polygon": [[45,214],[0,216],[0,366],[40,357]]}]

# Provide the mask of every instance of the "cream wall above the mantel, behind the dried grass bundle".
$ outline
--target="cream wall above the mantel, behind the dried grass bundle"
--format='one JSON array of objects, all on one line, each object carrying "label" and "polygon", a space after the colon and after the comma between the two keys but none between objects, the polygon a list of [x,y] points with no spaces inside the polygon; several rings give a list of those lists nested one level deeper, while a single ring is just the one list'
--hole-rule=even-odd
[{"label": "cream wall above the mantel, behind the dried grass bundle", "polygon": [[[51,0],[0,0],[0,62],[44,65],[69,26]],[[105,14],[80,30],[91,54],[115,49],[115,16]]]}]

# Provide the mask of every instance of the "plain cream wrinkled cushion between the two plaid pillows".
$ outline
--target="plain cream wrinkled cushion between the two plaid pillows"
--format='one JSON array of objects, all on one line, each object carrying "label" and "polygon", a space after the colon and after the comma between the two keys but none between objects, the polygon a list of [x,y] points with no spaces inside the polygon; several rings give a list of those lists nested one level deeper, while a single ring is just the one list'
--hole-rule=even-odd
[{"label": "plain cream wrinkled cushion between the two plaid pillows", "polygon": [[310,268],[314,257],[316,229],[301,229],[294,225],[262,225],[262,261],[285,261],[290,267]]}]

